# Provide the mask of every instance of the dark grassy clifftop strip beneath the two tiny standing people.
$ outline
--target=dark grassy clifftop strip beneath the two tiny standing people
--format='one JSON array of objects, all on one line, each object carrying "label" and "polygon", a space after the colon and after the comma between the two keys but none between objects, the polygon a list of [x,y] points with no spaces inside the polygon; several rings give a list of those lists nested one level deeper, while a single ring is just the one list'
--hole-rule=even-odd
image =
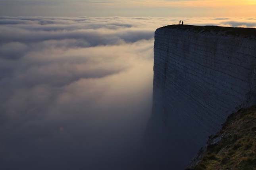
[{"label": "dark grassy clifftop strip beneath the two tiny standing people", "polygon": [[[234,28],[224,26],[195,26],[195,25],[168,25],[161,28],[181,29],[194,32],[209,32],[212,34],[239,36],[244,38],[256,38],[256,28]],[[158,29],[161,29],[158,28]]]}]

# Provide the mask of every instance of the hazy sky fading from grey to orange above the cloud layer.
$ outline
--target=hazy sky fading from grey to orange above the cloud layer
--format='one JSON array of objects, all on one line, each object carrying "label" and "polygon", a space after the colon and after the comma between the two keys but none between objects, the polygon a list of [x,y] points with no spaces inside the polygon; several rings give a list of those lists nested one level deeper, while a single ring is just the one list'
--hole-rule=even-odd
[{"label": "hazy sky fading from grey to orange above the cloud layer", "polygon": [[256,0],[1,0],[0,15],[233,16],[256,14]]}]

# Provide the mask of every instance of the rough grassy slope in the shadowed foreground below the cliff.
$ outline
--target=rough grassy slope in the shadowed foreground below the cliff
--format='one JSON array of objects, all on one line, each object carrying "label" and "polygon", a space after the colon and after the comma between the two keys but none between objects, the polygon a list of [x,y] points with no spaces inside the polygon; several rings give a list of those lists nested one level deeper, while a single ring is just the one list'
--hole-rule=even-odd
[{"label": "rough grassy slope in the shadowed foreground below the cliff", "polygon": [[231,114],[189,170],[256,170],[256,106]]}]

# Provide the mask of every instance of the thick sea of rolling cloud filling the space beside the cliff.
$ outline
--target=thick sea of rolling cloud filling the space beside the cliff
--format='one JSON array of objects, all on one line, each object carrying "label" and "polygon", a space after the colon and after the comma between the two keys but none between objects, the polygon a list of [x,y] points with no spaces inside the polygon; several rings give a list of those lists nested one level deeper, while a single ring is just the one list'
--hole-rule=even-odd
[{"label": "thick sea of rolling cloud filling the space beside the cliff", "polygon": [[[256,27],[253,18],[182,20]],[[154,31],[178,21],[0,17],[0,167],[142,169]]]}]

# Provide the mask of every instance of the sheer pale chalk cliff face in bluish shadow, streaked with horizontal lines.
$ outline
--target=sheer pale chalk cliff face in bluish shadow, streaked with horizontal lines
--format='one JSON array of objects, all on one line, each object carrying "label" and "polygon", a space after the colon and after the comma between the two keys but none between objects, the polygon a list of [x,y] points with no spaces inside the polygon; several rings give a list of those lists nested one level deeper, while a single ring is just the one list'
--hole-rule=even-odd
[{"label": "sheer pale chalk cliff face in bluish shadow, streaked with horizontal lines", "polygon": [[168,166],[184,169],[233,111],[256,104],[255,35],[216,26],[156,30],[148,133]]}]

